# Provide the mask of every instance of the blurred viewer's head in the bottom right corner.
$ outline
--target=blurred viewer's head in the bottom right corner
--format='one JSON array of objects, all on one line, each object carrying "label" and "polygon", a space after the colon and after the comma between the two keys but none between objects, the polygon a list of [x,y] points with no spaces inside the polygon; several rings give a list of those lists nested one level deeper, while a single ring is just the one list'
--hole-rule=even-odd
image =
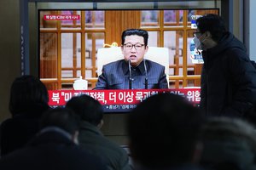
[{"label": "blurred viewer's head in the bottom right corner", "polygon": [[201,165],[209,170],[255,170],[256,132],[238,118],[212,117],[202,131]]}]

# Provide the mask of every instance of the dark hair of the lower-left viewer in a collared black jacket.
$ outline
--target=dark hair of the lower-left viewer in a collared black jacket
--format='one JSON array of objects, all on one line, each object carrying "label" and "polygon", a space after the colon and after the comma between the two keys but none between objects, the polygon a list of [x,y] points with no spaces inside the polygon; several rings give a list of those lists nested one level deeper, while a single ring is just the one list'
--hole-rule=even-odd
[{"label": "dark hair of the lower-left viewer in a collared black jacket", "polygon": [[40,119],[40,129],[44,127],[60,127],[67,133],[79,131],[79,116],[67,108],[49,109]]}]

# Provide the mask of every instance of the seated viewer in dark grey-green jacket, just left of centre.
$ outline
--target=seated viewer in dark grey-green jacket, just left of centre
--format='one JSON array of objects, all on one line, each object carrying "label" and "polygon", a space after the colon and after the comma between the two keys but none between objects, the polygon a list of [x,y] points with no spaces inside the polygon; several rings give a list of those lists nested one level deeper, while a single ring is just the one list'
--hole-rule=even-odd
[{"label": "seated viewer in dark grey-green jacket, just left of centre", "polygon": [[67,102],[81,119],[79,144],[82,148],[100,156],[108,169],[129,170],[129,157],[118,144],[105,138],[100,130],[103,125],[102,105],[89,95],[73,97]]}]

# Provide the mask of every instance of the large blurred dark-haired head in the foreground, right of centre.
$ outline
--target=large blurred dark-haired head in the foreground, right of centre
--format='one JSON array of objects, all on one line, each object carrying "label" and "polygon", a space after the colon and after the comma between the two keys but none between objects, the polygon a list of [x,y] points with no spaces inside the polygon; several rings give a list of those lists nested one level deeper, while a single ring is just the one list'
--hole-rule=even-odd
[{"label": "large blurred dark-haired head in the foreground, right of centre", "polygon": [[131,156],[143,166],[164,168],[191,162],[202,114],[176,94],[155,94],[128,117]]}]

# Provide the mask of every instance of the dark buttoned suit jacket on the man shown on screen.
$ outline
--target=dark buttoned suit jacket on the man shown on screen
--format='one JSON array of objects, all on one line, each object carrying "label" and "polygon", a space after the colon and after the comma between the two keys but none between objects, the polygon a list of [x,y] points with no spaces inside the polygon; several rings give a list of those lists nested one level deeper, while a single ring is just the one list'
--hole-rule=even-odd
[{"label": "dark buttoned suit jacket on the man shown on screen", "polygon": [[[165,67],[145,59],[148,75],[148,89],[168,88]],[[99,76],[94,89],[129,89],[129,65],[125,59],[103,65],[102,75]],[[145,88],[146,71],[141,62],[136,68],[131,67],[132,89]]]}]

